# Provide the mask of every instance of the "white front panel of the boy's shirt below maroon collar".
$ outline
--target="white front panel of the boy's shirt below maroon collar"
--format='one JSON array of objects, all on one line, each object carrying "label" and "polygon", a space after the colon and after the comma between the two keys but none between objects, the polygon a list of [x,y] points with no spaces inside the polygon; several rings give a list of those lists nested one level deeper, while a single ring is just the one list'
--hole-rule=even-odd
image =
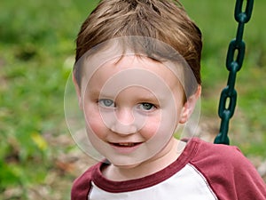
[{"label": "white front panel of the boy's shirt below maroon collar", "polygon": [[204,176],[192,164],[159,184],[122,193],[110,193],[92,182],[89,200],[217,200]]}]

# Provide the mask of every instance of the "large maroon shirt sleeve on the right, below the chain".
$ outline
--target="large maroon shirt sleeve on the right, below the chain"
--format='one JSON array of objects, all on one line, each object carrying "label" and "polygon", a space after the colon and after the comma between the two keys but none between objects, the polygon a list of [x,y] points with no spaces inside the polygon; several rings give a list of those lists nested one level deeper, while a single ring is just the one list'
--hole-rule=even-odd
[{"label": "large maroon shirt sleeve on the right, below the chain", "polygon": [[265,200],[266,184],[239,148],[200,143],[192,164],[221,200]]}]

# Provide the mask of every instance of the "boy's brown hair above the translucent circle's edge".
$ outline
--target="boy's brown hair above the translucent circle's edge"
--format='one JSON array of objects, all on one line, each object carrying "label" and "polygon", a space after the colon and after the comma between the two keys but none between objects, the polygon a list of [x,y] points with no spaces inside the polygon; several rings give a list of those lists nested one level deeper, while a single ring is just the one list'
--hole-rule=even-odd
[{"label": "boy's brown hair above the translucent circle's edge", "polygon": [[[120,36],[152,37],[169,44],[184,57],[201,84],[200,29],[177,0],[101,0],[82,24],[76,39],[75,62],[92,47]],[[75,66],[78,84],[80,70]]]}]

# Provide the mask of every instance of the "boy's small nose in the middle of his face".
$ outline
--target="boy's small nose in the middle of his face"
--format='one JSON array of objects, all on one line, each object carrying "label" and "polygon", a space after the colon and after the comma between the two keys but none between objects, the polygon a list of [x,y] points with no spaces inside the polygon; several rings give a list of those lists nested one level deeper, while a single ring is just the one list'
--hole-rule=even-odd
[{"label": "boy's small nose in the middle of his face", "polygon": [[118,109],[115,114],[115,119],[110,127],[112,132],[124,135],[137,132],[136,119],[131,109]]}]

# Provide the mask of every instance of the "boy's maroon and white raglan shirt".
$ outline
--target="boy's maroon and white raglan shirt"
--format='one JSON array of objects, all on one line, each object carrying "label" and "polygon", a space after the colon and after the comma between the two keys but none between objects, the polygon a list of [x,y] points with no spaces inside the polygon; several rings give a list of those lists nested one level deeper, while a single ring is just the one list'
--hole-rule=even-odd
[{"label": "boy's maroon and white raglan shirt", "polygon": [[[123,184],[106,180],[100,172],[102,164],[95,164],[84,172],[82,176],[74,180],[71,200],[88,200],[90,195],[95,193],[93,190],[95,188],[100,189],[99,191],[103,191],[103,193],[108,193],[110,196],[117,196],[120,192],[127,193],[127,196],[130,196],[131,193],[134,196],[137,193],[139,194],[138,199],[145,199],[142,196],[142,192],[147,192],[146,190],[153,191],[150,188],[154,188],[156,193],[158,193],[158,190],[163,190],[160,194],[164,194],[164,192],[165,194],[170,194],[171,191],[164,190],[174,188],[176,196],[181,195],[184,189],[189,188],[191,190],[187,191],[190,191],[190,193],[201,190],[200,195],[202,195],[203,189],[193,189],[193,185],[195,188],[199,188],[199,186],[207,188],[207,192],[212,197],[203,197],[203,199],[266,200],[265,182],[256,172],[253,164],[242,155],[239,148],[212,144],[197,138],[192,138],[188,141],[184,152],[178,157],[176,162],[169,164],[161,172],[156,172],[142,179],[123,181]],[[197,177],[195,176],[196,178],[194,179],[192,174],[196,174]],[[178,186],[179,181],[187,183],[187,186],[185,184],[180,184],[184,188],[180,187],[180,185]],[[196,181],[200,181],[203,184],[198,184]],[[134,183],[133,188],[132,183]],[[168,184],[167,186],[169,186],[172,183],[176,185],[164,188],[164,185]],[[194,199],[200,199],[197,194],[195,196],[196,198]],[[156,199],[160,199],[158,196],[156,197]],[[116,199],[116,197],[113,199]],[[123,197],[121,199],[131,200],[134,198]],[[184,197],[184,199],[190,200],[192,198]]]}]

